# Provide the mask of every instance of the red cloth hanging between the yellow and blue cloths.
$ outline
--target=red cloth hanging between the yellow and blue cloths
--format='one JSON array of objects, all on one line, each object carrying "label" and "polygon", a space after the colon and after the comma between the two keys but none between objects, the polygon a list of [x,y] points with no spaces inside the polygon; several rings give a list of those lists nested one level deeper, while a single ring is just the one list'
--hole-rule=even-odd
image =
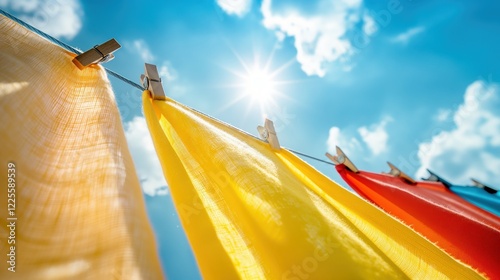
[{"label": "red cloth hanging between the yellow and blue cloths", "polygon": [[336,169],[361,196],[453,257],[500,279],[500,218],[467,203],[441,183],[412,185],[388,174],[354,173],[343,164]]}]

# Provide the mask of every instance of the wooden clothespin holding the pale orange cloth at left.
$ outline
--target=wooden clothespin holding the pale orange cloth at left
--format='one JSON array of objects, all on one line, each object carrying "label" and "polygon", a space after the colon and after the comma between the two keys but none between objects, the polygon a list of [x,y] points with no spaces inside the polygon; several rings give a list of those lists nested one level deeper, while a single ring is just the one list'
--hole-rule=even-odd
[{"label": "wooden clothespin holding the pale orange cloth at left", "polygon": [[111,39],[73,58],[73,63],[78,69],[83,70],[89,65],[110,61],[115,57],[113,52],[120,47],[120,44],[115,39]]}]

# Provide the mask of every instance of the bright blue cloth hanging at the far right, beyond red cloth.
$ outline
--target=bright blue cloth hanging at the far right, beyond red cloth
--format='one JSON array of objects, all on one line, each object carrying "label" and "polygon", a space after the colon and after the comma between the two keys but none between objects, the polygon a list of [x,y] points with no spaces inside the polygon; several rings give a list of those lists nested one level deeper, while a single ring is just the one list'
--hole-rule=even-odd
[{"label": "bright blue cloth hanging at the far right, beyond red cloth", "polygon": [[426,181],[441,182],[445,187],[468,202],[500,217],[500,193],[498,190],[488,187],[474,179],[472,179],[472,181],[475,186],[454,185],[434,172],[430,170],[427,171],[430,173],[430,176],[425,179]]}]

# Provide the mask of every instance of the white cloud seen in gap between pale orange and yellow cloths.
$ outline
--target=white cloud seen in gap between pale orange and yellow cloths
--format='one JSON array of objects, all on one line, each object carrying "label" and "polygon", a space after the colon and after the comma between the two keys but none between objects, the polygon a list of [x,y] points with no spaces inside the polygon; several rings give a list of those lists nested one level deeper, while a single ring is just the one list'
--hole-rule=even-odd
[{"label": "white cloud seen in gap between pale orange and yellow cloths", "polygon": [[144,117],[126,123],[125,136],[143,191],[148,195],[164,194],[167,183]]}]

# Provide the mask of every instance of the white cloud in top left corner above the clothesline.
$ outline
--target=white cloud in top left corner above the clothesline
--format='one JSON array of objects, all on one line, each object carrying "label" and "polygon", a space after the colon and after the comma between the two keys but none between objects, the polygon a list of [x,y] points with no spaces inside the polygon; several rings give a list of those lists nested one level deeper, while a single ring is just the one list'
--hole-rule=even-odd
[{"label": "white cloud in top left corner above the clothesline", "polygon": [[82,6],[78,0],[3,0],[0,7],[56,38],[72,39],[82,28]]}]

